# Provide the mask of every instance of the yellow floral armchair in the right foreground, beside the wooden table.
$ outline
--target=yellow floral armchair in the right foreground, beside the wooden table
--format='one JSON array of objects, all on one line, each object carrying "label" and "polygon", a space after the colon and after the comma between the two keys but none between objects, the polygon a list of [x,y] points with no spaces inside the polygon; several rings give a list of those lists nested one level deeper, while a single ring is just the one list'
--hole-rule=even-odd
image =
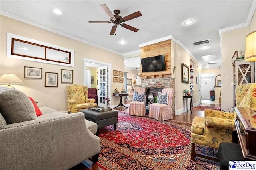
[{"label": "yellow floral armchair in the right foreground, beside the wooden table", "polygon": [[[256,107],[256,83],[236,86],[236,107]],[[195,145],[204,145],[218,149],[222,142],[232,142],[236,113],[204,110],[204,117],[194,117],[191,126],[191,160],[195,156],[218,160],[195,152]]]}]

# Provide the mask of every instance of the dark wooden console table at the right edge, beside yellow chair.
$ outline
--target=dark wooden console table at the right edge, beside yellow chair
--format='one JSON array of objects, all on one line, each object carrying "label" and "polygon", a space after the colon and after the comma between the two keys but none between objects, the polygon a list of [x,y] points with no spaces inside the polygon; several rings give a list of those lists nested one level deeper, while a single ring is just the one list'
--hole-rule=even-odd
[{"label": "dark wooden console table at the right edge, beside yellow chair", "polygon": [[256,119],[250,108],[235,107],[235,127],[245,160],[256,160]]}]

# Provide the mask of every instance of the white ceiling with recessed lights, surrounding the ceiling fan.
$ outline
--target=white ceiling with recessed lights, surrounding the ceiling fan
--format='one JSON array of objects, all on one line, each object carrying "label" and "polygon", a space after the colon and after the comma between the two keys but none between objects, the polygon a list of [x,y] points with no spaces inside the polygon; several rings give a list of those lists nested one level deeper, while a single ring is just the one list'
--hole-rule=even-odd
[{"label": "white ceiling with recessed lights, surrounding the ceiling fan", "polygon": [[[125,22],[139,31],[135,33],[118,25],[116,35],[109,35],[112,23],[88,23],[110,21],[99,4],[106,4],[111,11],[120,10],[122,17],[140,11],[142,16]],[[216,54],[214,62],[217,64],[210,64],[210,67],[221,66],[219,29],[250,21],[255,4],[252,0],[1,0],[0,14],[112,51],[124,58],[128,54],[132,56],[133,52],[138,53],[139,44],[172,35],[205,68],[209,62],[204,62],[202,55]],[[62,15],[54,14],[54,8],[60,9]],[[184,25],[186,20],[194,20],[194,23]],[[203,45],[193,45],[193,42],[205,39],[210,39],[208,49],[202,50]],[[119,44],[120,40],[125,40],[126,44]],[[137,66],[139,58],[126,59],[125,66],[140,68]]]}]

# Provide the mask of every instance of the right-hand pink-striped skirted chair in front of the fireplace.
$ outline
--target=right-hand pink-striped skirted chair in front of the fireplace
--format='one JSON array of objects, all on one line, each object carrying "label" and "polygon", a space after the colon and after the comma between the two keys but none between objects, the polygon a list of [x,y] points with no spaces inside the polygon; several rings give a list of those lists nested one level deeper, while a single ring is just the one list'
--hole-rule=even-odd
[{"label": "right-hand pink-striped skirted chair in front of the fireplace", "polygon": [[[172,119],[172,96],[174,93],[173,88],[164,88],[162,90],[162,96],[167,95],[166,103],[160,102],[158,98],[158,103],[152,103],[149,106],[148,117],[154,118],[158,121],[170,120]],[[159,95],[159,93],[158,93]]]}]

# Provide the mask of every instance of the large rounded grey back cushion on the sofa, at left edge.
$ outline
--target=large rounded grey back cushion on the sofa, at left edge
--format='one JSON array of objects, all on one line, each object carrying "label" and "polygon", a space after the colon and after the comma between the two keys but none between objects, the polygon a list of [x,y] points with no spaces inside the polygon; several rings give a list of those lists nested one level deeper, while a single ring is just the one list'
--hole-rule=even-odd
[{"label": "large rounded grey back cushion on the sofa, at left edge", "polygon": [[7,124],[36,119],[34,106],[23,92],[0,87],[0,101],[0,112]]}]

